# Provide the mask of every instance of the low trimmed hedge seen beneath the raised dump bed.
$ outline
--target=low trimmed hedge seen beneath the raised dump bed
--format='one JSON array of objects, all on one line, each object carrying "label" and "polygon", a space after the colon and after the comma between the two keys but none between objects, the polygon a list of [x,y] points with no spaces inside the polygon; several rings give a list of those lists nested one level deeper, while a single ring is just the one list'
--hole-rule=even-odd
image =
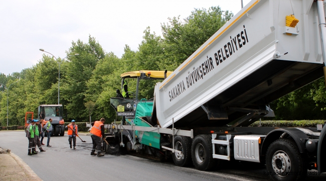
[{"label": "low trimmed hedge seen beneath the raised dump bed", "polygon": [[[326,120],[300,120],[300,121],[261,121],[261,127],[316,127],[317,124],[325,124]],[[259,121],[250,125],[251,127],[259,126]]]}]

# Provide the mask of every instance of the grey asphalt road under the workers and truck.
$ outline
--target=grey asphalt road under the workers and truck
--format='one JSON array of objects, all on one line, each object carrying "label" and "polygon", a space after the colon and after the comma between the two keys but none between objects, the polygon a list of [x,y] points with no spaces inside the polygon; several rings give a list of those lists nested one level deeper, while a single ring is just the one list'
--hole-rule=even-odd
[{"label": "grey asphalt road under the workers and truck", "polygon": [[[11,149],[43,180],[268,180],[264,166],[248,162],[226,162],[215,171],[178,167],[131,155],[91,156],[90,136],[77,138],[76,150],[69,148],[68,136],[51,137],[46,152],[28,156],[25,132],[0,131],[0,147]],[[44,138],[46,144],[47,137]],[[326,174],[307,176],[306,180],[326,180]]]}]

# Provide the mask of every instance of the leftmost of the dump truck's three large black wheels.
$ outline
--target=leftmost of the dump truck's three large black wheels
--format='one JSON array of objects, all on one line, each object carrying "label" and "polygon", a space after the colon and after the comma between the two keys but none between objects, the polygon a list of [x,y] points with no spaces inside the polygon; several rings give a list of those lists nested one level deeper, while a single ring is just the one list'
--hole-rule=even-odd
[{"label": "leftmost of the dump truck's three large black wheels", "polygon": [[175,149],[182,151],[184,154],[184,159],[178,156],[177,153],[172,153],[172,159],[177,166],[189,166],[192,163],[191,159],[191,143],[192,140],[185,136],[175,137]]}]

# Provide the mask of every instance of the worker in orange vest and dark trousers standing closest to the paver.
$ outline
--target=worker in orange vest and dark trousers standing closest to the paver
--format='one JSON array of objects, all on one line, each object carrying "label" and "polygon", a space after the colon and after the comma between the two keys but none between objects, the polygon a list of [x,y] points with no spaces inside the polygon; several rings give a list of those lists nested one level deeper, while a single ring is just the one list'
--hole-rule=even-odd
[{"label": "worker in orange vest and dark trousers standing closest to the paver", "polygon": [[101,153],[101,138],[104,138],[104,122],[104,118],[101,118],[100,121],[95,121],[90,131],[93,142],[91,155],[96,155],[95,148],[97,148],[97,156],[104,156],[104,154]]}]

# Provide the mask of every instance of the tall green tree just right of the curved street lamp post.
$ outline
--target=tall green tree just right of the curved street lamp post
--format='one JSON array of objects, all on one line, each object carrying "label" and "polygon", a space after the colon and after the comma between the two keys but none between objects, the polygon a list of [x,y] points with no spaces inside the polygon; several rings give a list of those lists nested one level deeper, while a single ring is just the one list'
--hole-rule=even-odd
[{"label": "tall green tree just right of the curved street lamp post", "polygon": [[88,115],[84,106],[86,82],[91,78],[97,62],[105,57],[105,52],[95,38],[89,36],[88,43],[81,40],[72,42],[67,55],[75,53],[79,56],[68,57],[70,62],[63,67],[62,98],[68,118],[85,120]]}]

